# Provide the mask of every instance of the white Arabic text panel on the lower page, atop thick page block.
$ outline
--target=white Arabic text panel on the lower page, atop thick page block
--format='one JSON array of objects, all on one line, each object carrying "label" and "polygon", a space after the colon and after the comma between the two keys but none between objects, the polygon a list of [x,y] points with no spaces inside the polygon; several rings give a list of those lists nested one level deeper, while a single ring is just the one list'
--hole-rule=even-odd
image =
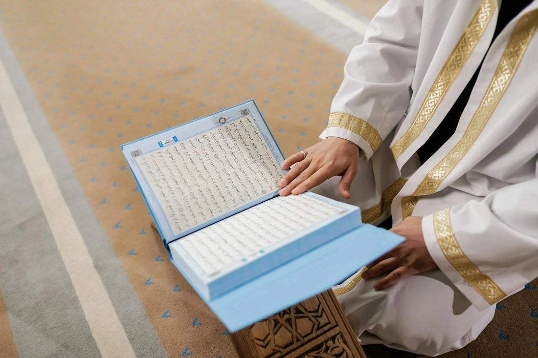
[{"label": "white Arabic text panel on the lower page, atop thick page block", "polygon": [[208,275],[215,275],[231,263],[263,253],[268,246],[342,212],[345,209],[307,195],[276,197],[189,234],[174,245],[182,245]]}]

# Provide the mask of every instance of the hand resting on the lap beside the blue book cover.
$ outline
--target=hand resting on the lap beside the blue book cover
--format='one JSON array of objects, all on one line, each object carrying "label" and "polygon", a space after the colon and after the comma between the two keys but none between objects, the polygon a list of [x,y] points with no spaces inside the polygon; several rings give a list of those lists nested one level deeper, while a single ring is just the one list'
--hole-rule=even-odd
[{"label": "hand resting on the lap beside the blue book cover", "polygon": [[390,231],[405,237],[406,240],[366,266],[367,270],[362,275],[365,280],[392,271],[374,283],[373,288],[376,290],[392,286],[407,276],[420,274],[437,267],[428,252],[426,242],[424,242],[422,217],[410,216]]}]

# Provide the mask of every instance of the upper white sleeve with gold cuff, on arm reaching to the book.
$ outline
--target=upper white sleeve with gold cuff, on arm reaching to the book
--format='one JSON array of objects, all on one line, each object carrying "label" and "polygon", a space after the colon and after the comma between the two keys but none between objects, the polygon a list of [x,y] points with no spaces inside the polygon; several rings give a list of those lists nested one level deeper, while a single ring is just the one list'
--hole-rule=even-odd
[{"label": "upper white sleeve with gold cuff, on arm reaching to the book", "polygon": [[422,5],[423,0],[391,0],[373,18],[363,44],[345,63],[321,139],[350,140],[370,159],[398,124],[411,99]]}]

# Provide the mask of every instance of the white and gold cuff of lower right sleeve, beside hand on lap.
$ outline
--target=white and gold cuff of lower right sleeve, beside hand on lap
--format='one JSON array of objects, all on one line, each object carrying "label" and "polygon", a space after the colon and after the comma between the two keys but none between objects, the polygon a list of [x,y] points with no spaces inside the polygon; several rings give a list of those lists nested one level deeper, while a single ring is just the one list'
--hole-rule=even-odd
[{"label": "white and gold cuff of lower right sleeve, beside hand on lap", "polygon": [[[450,282],[469,299],[478,310],[491,306],[480,295],[477,282],[478,268],[468,259],[459,246],[450,223],[450,208],[422,218],[424,242],[437,266]],[[478,290],[477,290],[478,289]]]}]

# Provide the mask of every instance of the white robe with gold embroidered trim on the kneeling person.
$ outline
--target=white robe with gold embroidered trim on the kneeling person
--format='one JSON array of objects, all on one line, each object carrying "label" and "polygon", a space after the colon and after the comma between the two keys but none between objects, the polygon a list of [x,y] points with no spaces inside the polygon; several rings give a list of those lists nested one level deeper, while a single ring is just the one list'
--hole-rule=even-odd
[{"label": "white robe with gold embroidered trim on the kneeling person", "polygon": [[[491,43],[497,16],[495,0],[392,0],[346,61],[321,138],[345,138],[361,149],[348,202],[372,224],[390,215],[393,225],[422,216],[440,268],[383,294],[373,291],[373,281],[339,285],[339,300],[363,342],[429,355],[462,347],[489,323],[495,303],[538,276],[538,0]],[[456,132],[421,165],[417,149],[483,59]],[[316,190],[336,198],[336,182]],[[419,306],[415,291],[426,295]],[[387,295],[399,295],[398,304],[388,305]],[[408,323],[388,323],[377,313],[376,325],[373,313],[359,309],[372,300],[384,300],[402,319],[414,314],[422,319],[414,325],[426,329],[435,310],[451,333],[438,332],[436,340],[419,329],[409,338],[401,332],[411,329]],[[466,302],[456,314],[452,306]],[[413,307],[421,313],[407,312]]]}]

